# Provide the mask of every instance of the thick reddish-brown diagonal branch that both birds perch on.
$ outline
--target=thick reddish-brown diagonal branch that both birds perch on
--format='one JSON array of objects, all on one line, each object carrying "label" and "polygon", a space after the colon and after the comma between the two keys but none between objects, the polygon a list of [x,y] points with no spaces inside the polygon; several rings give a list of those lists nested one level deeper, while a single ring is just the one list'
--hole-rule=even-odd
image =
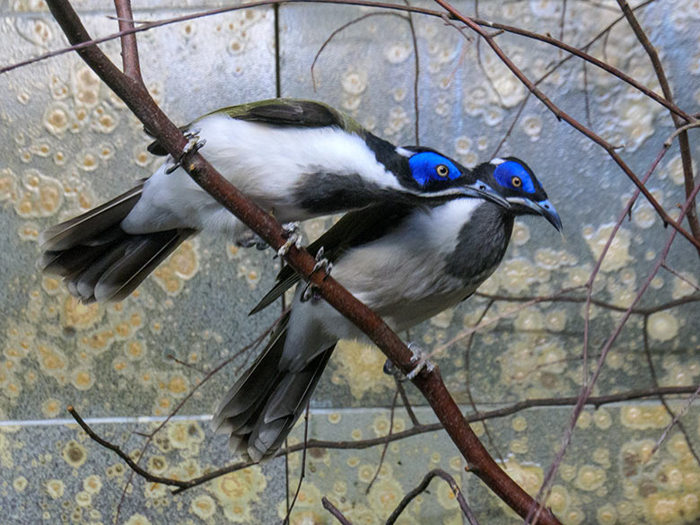
[{"label": "thick reddish-brown diagonal branch that both birds perch on", "polygon": [[[71,44],[91,39],[67,0],[48,0],[48,7]],[[223,179],[201,155],[196,152],[184,153],[187,145],[185,137],[162,113],[142,84],[118,71],[97,46],[83,48],[78,53],[101,80],[127,104],[153,136],[158,138],[168,153],[173,158],[181,159],[183,169],[188,171],[199,186],[258,233],[270,246],[278,249],[284,244],[284,231],[279,223]],[[411,352],[376,313],[357,301],[332,277],[323,276],[321,273],[313,274],[316,261],[305,250],[292,247],[285,260],[306,279],[311,276],[311,282],[331,306],[361,328],[402,372],[410,372]],[[524,517],[534,504],[532,498],[503,472],[479,442],[445,388],[437,368],[433,372],[419,374],[414,383],[433,407],[435,415],[477,475],[503,502]],[[543,512],[541,522],[544,525],[559,523],[550,512]]]}]

